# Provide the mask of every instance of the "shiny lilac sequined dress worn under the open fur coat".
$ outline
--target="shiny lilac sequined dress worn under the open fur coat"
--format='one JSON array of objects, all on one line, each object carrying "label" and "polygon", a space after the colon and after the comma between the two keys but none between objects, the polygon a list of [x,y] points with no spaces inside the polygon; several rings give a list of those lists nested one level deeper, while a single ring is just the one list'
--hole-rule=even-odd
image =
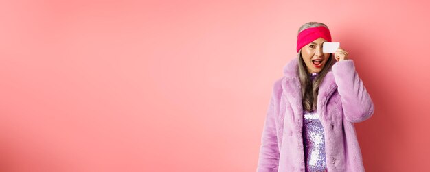
[{"label": "shiny lilac sequined dress worn under the open fur coat", "polygon": [[[310,79],[315,79],[318,74],[311,73]],[[317,110],[304,111],[302,135],[306,171],[326,171],[324,128],[319,121]]]}]

